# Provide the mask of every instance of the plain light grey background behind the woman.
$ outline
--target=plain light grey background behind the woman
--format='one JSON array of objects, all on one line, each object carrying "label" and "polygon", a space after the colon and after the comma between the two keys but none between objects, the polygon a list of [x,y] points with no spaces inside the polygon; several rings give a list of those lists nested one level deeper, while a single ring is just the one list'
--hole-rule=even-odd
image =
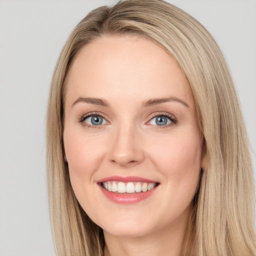
[{"label": "plain light grey background behind the woman", "polygon": [[[51,74],[75,24],[114,0],[0,0],[0,256],[54,255],[45,184]],[[197,18],[227,59],[255,166],[256,1],[169,0]],[[254,149],[254,152],[253,152]]]}]

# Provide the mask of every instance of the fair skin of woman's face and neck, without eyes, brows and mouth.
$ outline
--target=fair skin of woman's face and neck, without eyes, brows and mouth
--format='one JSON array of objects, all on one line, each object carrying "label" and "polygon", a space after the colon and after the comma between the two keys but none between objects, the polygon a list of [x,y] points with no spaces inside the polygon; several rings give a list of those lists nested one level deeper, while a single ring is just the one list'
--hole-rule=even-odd
[{"label": "fair skin of woman's face and neck, without eyes, brows and mouth", "polygon": [[[193,96],[177,62],[148,39],[105,36],[82,48],[66,86],[63,141],[70,181],[82,208],[103,229],[104,255],[180,255],[202,143]],[[73,104],[79,97],[104,99],[109,106]],[[167,97],[179,101],[141,106]],[[102,115],[103,124],[80,122],[90,112]],[[153,115],[163,113],[176,123],[159,128]],[[111,175],[159,185],[142,201],[118,204],[97,184]]]}]

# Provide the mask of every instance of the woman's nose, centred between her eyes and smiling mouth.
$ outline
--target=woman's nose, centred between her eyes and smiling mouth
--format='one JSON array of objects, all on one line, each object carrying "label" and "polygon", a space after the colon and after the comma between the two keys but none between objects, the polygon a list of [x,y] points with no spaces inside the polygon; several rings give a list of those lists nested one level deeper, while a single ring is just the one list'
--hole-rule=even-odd
[{"label": "woman's nose, centred between her eyes and smiling mouth", "polygon": [[141,136],[135,127],[119,125],[114,130],[108,159],[120,166],[136,165],[144,159]]}]

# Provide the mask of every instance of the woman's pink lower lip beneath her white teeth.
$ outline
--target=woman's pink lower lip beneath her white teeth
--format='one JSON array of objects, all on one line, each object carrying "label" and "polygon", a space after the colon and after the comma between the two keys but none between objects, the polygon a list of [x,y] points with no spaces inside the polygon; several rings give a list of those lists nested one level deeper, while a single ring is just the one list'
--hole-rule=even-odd
[{"label": "woman's pink lower lip beneath her white teeth", "polygon": [[115,192],[110,192],[103,188],[101,185],[99,185],[101,191],[107,197],[109,200],[120,203],[120,204],[132,204],[136,203],[139,201],[142,201],[149,197],[154,191],[155,187],[149,191],[146,192],[138,192],[138,193],[115,193]]}]

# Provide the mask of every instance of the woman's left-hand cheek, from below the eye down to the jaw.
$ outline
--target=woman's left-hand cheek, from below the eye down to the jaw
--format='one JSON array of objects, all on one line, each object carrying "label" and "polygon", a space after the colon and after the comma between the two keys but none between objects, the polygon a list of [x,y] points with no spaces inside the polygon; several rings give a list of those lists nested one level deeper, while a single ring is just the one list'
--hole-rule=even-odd
[{"label": "woman's left-hand cheek, from below the eye down to the jaw", "polygon": [[99,166],[103,148],[97,141],[84,136],[82,131],[74,132],[68,125],[63,132],[63,143],[73,192],[83,209],[87,210],[86,206],[96,200],[89,188],[95,181],[93,175]]}]

